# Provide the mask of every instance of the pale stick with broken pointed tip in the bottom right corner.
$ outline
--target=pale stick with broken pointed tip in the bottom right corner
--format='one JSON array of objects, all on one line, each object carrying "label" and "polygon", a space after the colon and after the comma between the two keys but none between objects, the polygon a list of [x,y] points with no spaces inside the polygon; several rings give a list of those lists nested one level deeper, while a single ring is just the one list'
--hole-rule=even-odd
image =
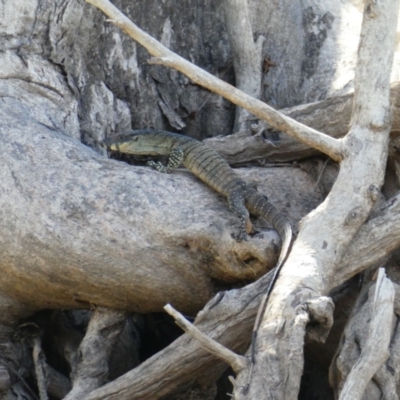
[{"label": "pale stick with broken pointed tip in the bottom right corner", "polygon": [[369,335],[360,358],[347,376],[339,400],[361,400],[368,382],[389,357],[393,324],[394,287],[379,269],[375,285]]}]

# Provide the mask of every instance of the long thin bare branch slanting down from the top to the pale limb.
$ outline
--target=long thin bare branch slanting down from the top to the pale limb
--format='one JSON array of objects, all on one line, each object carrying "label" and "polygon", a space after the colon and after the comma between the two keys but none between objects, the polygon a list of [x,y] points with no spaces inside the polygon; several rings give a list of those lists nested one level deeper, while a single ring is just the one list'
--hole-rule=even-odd
[{"label": "long thin bare branch slanting down from the top to the pale limb", "polygon": [[274,128],[286,132],[308,146],[322,151],[335,161],[340,161],[343,158],[342,142],[340,140],[334,139],[282,115],[262,101],[243,93],[234,86],[214,77],[184,58],[176,55],[156,39],[139,29],[108,0],[86,1],[102,10],[111,18],[111,21],[115,25],[123,29],[131,38],[144,46],[152,56],[156,57],[149,61],[150,64],[161,64],[177,69],[188,76],[194,83],[220,94],[232,103],[266,120]]}]

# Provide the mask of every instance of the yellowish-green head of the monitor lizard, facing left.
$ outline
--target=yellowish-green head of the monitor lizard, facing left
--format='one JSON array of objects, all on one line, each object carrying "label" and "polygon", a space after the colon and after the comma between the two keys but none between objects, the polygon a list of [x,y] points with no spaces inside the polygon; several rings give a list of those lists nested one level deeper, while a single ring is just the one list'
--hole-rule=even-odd
[{"label": "yellowish-green head of the monitor lizard, facing left", "polygon": [[112,151],[136,155],[168,155],[170,141],[159,131],[128,131],[104,139],[103,143]]}]

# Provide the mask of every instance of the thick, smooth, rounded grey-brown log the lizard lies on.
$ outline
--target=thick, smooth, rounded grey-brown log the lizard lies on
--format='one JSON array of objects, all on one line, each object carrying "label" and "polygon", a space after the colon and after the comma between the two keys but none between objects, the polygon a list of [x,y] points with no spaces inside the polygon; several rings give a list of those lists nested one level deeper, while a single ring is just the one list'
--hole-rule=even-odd
[{"label": "thick, smooth, rounded grey-brown log the lizard lies on", "polygon": [[[263,229],[236,242],[237,219],[226,201],[189,172],[161,179],[148,168],[108,160],[38,124],[18,101],[0,101],[0,159],[7,166],[1,289],[29,310],[92,303],[146,312],[170,301],[190,314],[213,296],[214,279],[256,279],[274,266],[276,233]],[[322,199],[298,168],[239,173],[281,203],[293,225]],[[293,190],[289,202],[286,185]]]}]

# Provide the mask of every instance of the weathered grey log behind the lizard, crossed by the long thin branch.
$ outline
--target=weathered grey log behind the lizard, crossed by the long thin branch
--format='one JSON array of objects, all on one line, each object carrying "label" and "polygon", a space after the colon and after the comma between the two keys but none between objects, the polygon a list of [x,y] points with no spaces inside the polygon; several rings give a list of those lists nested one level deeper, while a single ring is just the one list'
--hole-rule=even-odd
[{"label": "weathered grey log behind the lizard, crossed by the long thin branch", "polygon": [[[328,98],[315,103],[301,104],[279,110],[282,114],[323,131],[334,138],[343,137],[349,130],[354,94]],[[400,85],[394,83],[390,97],[393,107],[392,139],[400,132]],[[230,164],[259,161],[287,162],[316,155],[319,152],[260,121],[257,132],[244,130],[229,136],[206,139]]]}]

